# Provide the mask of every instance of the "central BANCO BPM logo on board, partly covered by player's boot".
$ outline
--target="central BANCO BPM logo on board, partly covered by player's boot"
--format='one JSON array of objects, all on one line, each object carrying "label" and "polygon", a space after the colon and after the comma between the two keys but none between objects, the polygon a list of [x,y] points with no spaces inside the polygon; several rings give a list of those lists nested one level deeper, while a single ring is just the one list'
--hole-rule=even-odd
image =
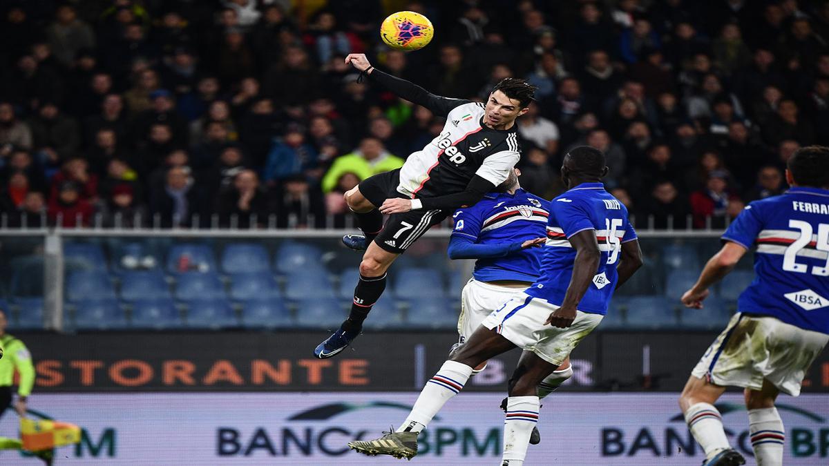
[{"label": "central BANCO BPM logo on board, partly covered by player's boot", "polygon": [[[216,429],[216,454],[221,457],[336,457],[351,451],[351,440],[381,434],[386,419],[402,419],[410,405],[381,400],[366,403],[329,403],[288,415],[277,425],[253,429],[223,426]],[[501,428],[440,425],[418,437],[418,456],[498,458]],[[463,421],[461,421],[463,422]],[[369,424],[367,424],[369,423]],[[371,425],[371,427],[369,427]]]}]

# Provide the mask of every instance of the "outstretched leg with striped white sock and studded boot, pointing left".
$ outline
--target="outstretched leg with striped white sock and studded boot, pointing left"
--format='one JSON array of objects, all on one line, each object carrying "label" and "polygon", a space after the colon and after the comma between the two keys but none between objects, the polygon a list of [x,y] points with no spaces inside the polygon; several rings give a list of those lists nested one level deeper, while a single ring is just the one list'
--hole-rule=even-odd
[{"label": "outstretched leg with striped white sock and studded boot, pointing left", "polygon": [[379,439],[349,442],[351,449],[370,456],[388,454],[395,458],[413,458],[417,454],[418,434],[429,425],[446,402],[457,395],[472,376],[473,367],[514,348],[507,338],[487,328],[478,328],[453,357],[440,366],[426,382],[414,402],[409,416],[395,432]]}]

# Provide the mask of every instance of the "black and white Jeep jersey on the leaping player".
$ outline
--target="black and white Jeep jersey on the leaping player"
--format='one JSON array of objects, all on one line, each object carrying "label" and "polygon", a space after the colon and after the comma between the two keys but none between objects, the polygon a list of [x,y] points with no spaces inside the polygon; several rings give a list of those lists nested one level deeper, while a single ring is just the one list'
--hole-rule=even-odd
[{"label": "black and white Jeep jersey on the leaping player", "polygon": [[463,192],[478,175],[497,186],[521,157],[517,126],[491,129],[483,124],[484,104],[429,94],[409,81],[380,70],[371,79],[396,95],[446,118],[437,138],[410,154],[400,168],[397,192],[405,197],[438,197]]}]

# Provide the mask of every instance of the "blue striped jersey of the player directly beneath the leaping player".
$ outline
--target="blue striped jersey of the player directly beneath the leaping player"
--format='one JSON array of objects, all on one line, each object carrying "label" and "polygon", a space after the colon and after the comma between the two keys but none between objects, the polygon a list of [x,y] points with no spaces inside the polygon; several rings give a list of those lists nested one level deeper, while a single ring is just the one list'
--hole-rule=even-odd
[{"label": "blue striped jersey of the player directly beneath the leaping player", "polygon": [[[550,201],[523,189],[516,193],[491,192],[474,206],[458,209],[454,214],[453,236],[463,236],[476,244],[502,245],[521,243],[545,236]],[[520,280],[534,282],[541,267],[541,248],[516,250],[509,255],[478,259],[473,276],[476,280]]]}]

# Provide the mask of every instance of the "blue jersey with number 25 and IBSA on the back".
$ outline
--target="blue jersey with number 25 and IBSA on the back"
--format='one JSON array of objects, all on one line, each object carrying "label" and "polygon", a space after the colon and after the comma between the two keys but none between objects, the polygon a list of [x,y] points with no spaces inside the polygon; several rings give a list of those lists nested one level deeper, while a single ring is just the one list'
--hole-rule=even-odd
[{"label": "blue jersey with number 25 and IBSA on the back", "polygon": [[740,312],[829,333],[829,191],[793,187],[754,201],[723,240],[757,245],[754,281],[739,295]]}]

